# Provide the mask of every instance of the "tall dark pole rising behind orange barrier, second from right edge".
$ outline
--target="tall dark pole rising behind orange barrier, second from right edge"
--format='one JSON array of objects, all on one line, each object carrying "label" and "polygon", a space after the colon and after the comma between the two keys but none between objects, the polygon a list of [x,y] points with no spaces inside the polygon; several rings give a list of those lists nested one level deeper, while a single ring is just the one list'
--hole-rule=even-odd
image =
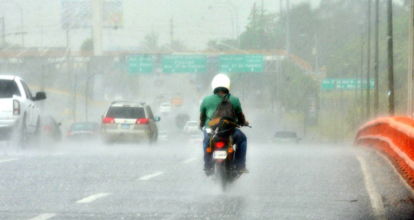
[{"label": "tall dark pole rising behind orange barrier, second from right edge", "polygon": [[387,0],[388,27],[388,113],[394,115],[394,49],[392,34],[392,0]]}]

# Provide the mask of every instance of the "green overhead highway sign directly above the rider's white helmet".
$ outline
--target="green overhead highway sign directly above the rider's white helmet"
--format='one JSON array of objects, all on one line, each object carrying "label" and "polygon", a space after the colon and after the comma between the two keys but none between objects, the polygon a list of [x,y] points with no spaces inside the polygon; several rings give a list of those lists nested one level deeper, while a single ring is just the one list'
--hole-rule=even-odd
[{"label": "green overhead highway sign directly above the rider's white helmet", "polygon": [[263,55],[221,55],[219,71],[226,73],[260,73],[264,70]]}]

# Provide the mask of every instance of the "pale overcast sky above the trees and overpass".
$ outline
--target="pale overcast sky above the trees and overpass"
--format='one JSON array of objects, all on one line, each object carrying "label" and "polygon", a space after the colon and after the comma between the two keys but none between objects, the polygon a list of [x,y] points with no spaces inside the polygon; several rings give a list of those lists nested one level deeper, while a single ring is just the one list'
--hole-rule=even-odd
[{"label": "pale overcast sky above the trees and overpass", "polygon": [[[23,9],[25,46],[64,47],[66,32],[61,27],[62,0],[9,0],[0,2],[0,17],[5,17],[6,34],[20,32],[20,10]],[[66,0],[67,1],[67,0]],[[76,0],[80,1],[80,0]],[[295,5],[320,0],[290,0]],[[13,2],[17,3],[14,4]],[[261,9],[262,0],[123,0],[124,27],[104,29],[104,49],[138,47],[146,34],[159,34],[160,44],[170,41],[170,19],[173,18],[174,38],[194,49],[203,49],[210,39],[231,38],[236,35],[236,15],[239,32],[247,24],[253,4]],[[279,11],[280,0],[263,0],[266,11]],[[233,9],[232,5],[235,9]],[[283,8],[286,0],[283,0]],[[236,12],[237,11],[237,12]],[[233,19],[232,19],[233,17]],[[234,29],[233,29],[234,27]],[[43,34],[42,34],[43,29]],[[70,31],[74,50],[91,35],[90,28]],[[20,44],[20,36],[9,35],[6,40]]]}]

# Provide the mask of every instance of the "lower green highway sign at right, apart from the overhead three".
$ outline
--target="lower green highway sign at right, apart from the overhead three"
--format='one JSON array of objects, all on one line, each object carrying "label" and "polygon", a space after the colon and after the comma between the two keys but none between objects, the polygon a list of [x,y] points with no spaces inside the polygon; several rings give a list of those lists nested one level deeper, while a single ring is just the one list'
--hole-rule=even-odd
[{"label": "lower green highway sign at right, apart from the overhead three", "polygon": [[[342,84],[341,84],[342,81]],[[367,80],[363,80],[363,89],[367,88]],[[322,80],[322,90],[334,90],[342,89],[342,90],[353,90],[353,89],[361,89],[361,80],[355,79],[323,79]],[[375,80],[370,79],[369,81],[369,88],[375,88]]]}]

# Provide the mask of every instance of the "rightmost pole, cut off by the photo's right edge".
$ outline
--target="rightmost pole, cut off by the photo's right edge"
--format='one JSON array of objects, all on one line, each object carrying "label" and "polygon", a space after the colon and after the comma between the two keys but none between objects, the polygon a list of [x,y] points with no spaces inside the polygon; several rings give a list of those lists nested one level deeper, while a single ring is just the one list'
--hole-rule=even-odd
[{"label": "rightmost pole, cut off by the photo's right edge", "polygon": [[407,115],[413,117],[413,74],[414,74],[414,0],[410,1],[410,59],[408,60],[408,103]]}]

